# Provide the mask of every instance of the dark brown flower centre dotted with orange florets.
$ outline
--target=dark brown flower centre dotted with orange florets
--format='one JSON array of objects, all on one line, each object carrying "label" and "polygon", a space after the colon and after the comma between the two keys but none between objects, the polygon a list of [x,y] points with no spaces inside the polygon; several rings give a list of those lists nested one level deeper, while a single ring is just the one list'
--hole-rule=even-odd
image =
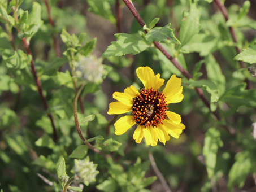
[{"label": "dark brown flower centre dotted with orange florets", "polygon": [[138,125],[157,126],[163,124],[168,109],[163,93],[158,90],[141,89],[136,98],[133,99],[132,115]]}]

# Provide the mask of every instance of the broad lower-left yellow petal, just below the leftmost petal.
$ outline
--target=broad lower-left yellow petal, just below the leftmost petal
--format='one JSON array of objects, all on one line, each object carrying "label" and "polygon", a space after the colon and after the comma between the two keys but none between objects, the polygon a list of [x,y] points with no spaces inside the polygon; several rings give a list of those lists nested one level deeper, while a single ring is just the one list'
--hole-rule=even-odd
[{"label": "broad lower-left yellow petal, just below the leftmost petal", "polygon": [[132,115],[127,115],[121,117],[119,120],[116,121],[114,124],[115,126],[115,134],[120,135],[124,134],[129,128],[131,128],[135,124],[135,120],[133,119]]}]

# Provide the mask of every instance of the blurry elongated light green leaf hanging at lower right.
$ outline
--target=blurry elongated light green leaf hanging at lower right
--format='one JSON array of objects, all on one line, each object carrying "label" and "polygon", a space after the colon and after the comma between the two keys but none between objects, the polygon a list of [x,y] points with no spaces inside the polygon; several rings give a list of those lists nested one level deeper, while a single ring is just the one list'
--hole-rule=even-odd
[{"label": "blurry elongated light green leaf hanging at lower right", "polygon": [[203,156],[205,156],[205,164],[209,178],[211,178],[214,175],[214,169],[217,160],[217,152],[219,147],[222,146],[223,142],[222,139],[220,138],[219,130],[216,128],[208,129],[205,134]]}]

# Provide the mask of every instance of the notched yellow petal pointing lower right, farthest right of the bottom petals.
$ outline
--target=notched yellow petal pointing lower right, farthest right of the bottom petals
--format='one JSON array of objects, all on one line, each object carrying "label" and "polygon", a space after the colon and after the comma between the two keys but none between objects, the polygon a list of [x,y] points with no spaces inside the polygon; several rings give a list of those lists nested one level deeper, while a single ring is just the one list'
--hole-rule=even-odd
[{"label": "notched yellow petal pointing lower right, farthest right of the bottom petals", "polygon": [[185,129],[185,125],[173,123],[170,119],[165,119],[162,123],[168,129],[168,134],[174,138],[179,138],[182,130]]}]

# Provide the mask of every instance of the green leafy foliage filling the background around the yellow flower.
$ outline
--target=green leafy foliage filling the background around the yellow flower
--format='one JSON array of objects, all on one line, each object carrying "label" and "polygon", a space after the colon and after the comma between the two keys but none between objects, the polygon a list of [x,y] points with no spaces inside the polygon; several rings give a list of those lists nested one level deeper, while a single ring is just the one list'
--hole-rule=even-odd
[{"label": "green leafy foliage filling the background around the yellow flower", "polygon": [[[227,19],[216,2],[133,0],[140,26],[124,1],[0,0],[1,192],[163,191],[150,153],[173,191],[255,190],[256,8],[221,1]],[[93,22],[109,43],[100,55]],[[166,145],[116,136],[107,115],[114,91],[142,87],[140,66],[182,78],[184,99],[168,107],[186,129]]]}]

